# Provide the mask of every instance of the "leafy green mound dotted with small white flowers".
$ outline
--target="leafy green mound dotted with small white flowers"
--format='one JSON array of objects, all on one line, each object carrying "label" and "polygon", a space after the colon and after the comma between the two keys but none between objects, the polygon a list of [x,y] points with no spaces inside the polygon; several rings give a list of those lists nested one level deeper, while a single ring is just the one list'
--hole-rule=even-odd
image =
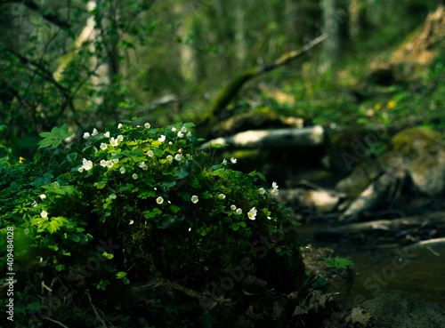
[{"label": "leafy green mound dotted with small white flowers", "polygon": [[[72,135],[66,125],[54,128],[41,133],[34,161],[10,157],[0,165],[0,263],[4,269],[6,231],[13,227],[17,279],[32,286],[17,301],[25,312],[45,307],[33,292],[42,282],[68,290],[61,302],[79,308],[82,290],[117,302],[114,292],[135,276],[202,289],[243,257],[261,255],[251,245],[271,234],[283,237],[271,243],[269,260],[288,259],[280,262],[294,284],[303,279],[295,234],[282,230],[287,212],[256,185],[263,174],[215,163],[214,148],[199,148],[191,135],[194,124],[138,125],[144,121],[94,129],[82,145],[64,144]],[[63,308],[53,312],[62,316]]]}]

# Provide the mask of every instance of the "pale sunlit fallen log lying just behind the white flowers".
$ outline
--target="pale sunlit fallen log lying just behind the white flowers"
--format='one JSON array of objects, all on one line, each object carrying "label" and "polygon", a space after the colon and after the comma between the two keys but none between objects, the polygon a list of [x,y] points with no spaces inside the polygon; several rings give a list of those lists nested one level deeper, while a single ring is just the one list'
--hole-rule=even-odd
[{"label": "pale sunlit fallen log lying just behind the white flowers", "polygon": [[293,148],[316,147],[325,142],[325,132],[320,125],[302,129],[250,130],[229,137],[207,141],[210,144],[225,144],[233,148]]}]

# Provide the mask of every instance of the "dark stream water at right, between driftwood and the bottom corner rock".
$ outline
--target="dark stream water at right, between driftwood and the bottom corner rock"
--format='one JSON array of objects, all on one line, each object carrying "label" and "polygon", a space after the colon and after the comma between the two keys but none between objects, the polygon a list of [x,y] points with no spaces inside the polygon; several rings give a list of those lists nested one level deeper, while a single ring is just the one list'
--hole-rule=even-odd
[{"label": "dark stream water at right, between driftwood and the bottom corner rock", "polygon": [[352,287],[349,291],[340,291],[340,299],[359,304],[377,294],[399,289],[420,295],[431,303],[439,302],[445,308],[445,248],[413,251],[393,245],[366,249],[315,240],[313,233],[326,228],[326,224],[303,224],[298,231],[307,243],[331,248],[336,256],[354,261]]}]

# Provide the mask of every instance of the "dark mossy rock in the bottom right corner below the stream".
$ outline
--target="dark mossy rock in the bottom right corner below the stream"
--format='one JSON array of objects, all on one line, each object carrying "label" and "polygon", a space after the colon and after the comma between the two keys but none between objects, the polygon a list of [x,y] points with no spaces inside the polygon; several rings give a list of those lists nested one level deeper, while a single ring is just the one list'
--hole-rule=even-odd
[{"label": "dark mossy rock in the bottom right corner below the stream", "polygon": [[418,295],[395,290],[364,303],[376,328],[443,328],[445,309]]}]

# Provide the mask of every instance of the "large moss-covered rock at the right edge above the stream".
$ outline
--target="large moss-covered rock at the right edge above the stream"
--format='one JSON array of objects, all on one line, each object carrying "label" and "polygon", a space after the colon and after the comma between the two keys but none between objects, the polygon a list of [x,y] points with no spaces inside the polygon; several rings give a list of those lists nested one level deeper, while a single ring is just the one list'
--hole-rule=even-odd
[{"label": "large moss-covered rock at the right edge above the stream", "polygon": [[410,128],[397,133],[391,140],[392,153],[400,157],[414,186],[433,196],[445,189],[445,146],[441,135],[427,128]]}]

